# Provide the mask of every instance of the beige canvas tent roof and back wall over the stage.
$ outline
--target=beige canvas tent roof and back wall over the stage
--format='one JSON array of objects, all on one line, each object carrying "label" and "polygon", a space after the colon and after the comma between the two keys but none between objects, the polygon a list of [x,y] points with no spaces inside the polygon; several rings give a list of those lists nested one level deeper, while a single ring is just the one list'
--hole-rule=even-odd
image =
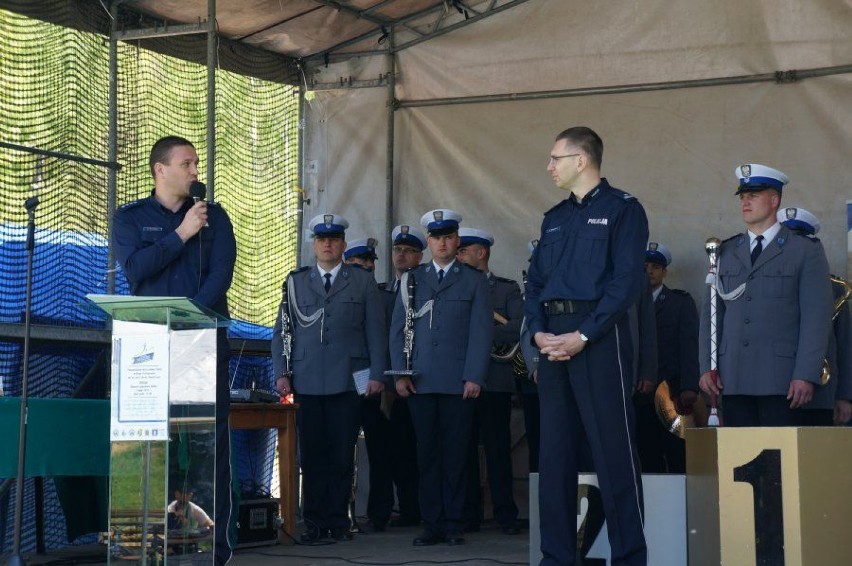
[{"label": "beige canvas tent roof and back wall over the stage", "polygon": [[[198,23],[207,5],[124,2],[120,29]],[[101,2],[77,6],[109,29]],[[704,240],[744,229],[732,194],[744,162],[790,176],[782,206],[817,214],[834,272],[847,272],[848,3],[219,0],[216,22],[223,66],[263,53],[272,64],[237,63],[319,91],[305,105],[303,213],[346,215],[352,238],[454,208],[495,234],[494,271],[519,278],[542,212],[564,197],[547,152],[582,124],[604,139],[605,176],[672,250],[676,286],[701,292]]]}]

